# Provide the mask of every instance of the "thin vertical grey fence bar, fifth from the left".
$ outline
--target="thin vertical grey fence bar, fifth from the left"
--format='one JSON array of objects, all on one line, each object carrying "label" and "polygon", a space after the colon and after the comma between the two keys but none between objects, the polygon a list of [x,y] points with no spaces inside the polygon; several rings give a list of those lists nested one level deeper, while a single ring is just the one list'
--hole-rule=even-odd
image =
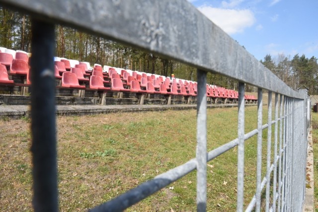
[{"label": "thin vertical grey fence bar, fifth from the left", "polygon": [[265,210],[269,211],[269,193],[270,193],[270,155],[271,155],[271,140],[272,140],[272,92],[268,92],[268,129],[267,129],[267,162],[266,162],[266,203]]}]

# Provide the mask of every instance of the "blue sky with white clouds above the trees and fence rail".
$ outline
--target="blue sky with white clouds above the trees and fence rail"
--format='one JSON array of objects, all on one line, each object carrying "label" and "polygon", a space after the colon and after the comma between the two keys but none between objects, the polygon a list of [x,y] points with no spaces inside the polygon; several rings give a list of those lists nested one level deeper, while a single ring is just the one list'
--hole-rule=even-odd
[{"label": "blue sky with white clouds above the trees and fence rail", "polygon": [[263,59],[318,58],[318,0],[188,0],[240,45]]}]

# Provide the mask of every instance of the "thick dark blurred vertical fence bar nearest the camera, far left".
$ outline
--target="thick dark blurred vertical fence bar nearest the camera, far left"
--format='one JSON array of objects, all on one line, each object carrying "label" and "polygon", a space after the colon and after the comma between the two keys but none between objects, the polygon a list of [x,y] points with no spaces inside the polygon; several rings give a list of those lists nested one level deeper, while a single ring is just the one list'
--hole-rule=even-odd
[{"label": "thick dark blurred vertical fence bar nearest the camera, far left", "polygon": [[32,19],[31,152],[36,212],[58,211],[54,52],[54,25]]}]

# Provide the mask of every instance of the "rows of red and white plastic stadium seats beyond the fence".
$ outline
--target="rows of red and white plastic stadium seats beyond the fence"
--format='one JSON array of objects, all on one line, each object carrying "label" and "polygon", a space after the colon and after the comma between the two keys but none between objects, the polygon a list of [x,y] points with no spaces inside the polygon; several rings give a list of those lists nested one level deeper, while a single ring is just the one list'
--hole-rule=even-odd
[{"label": "rows of red and white plastic stadium seats beyond the fence", "polygon": [[[4,51],[4,52],[3,52]],[[30,53],[0,48],[0,85],[30,86]],[[80,89],[102,92],[131,92],[195,97],[197,83],[189,80],[165,77],[157,74],[126,70],[100,64],[90,66],[88,62],[54,57],[55,78],[59,89]],[[15,83],[10,76],[24,77],[23,83]],[[10,79],[12,78],[12,79]],[[234,90],[207,85],[207,97],[237,100]],[[256,102],[252,95],[247,101]]]}]

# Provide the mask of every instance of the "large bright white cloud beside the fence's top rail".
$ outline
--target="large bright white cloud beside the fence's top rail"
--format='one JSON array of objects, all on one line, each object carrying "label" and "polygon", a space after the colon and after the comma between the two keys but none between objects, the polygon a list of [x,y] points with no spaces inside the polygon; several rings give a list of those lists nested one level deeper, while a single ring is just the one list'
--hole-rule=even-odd
[{"label": "large bright white cloud beside the fence's top rail", "polygon": [[243,32],[255,23],[254,14],[248,9],[222,9],[212,6],[200,6],[198,9],[228,34]]}]

